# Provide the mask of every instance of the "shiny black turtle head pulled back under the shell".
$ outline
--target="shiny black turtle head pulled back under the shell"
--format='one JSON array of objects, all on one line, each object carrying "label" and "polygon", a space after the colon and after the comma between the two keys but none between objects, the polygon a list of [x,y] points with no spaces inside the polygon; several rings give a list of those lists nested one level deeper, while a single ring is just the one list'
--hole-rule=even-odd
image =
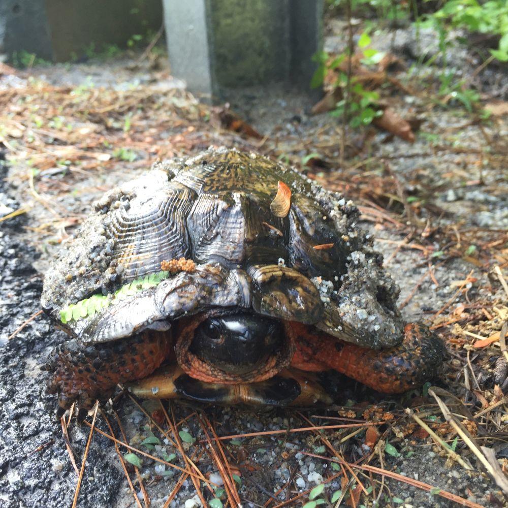
[{"label": "shiny black turtle head pulled back under the shell", "polygon": [[205,319],[196,328],[189,351],[208,364],[238,375],[265,364],[283,342],[278,320],[242,312]]}]

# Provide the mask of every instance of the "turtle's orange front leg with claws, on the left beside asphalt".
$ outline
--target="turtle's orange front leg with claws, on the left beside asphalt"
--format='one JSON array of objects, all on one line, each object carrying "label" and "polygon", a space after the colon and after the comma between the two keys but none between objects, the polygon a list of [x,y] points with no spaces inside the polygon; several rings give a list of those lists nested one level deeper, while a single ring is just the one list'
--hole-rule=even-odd
[{"label": "turtle's orange front leg with claws, on the left beside asphalt", "polygon": [[58,417],[77,402],[81,414],[107,400],[118,383],[151,374],[168,356],[170,332],[148,331],[129,339],[83,344],[71,339],[56,346],[43,367],[48,393],[58,393]]}]

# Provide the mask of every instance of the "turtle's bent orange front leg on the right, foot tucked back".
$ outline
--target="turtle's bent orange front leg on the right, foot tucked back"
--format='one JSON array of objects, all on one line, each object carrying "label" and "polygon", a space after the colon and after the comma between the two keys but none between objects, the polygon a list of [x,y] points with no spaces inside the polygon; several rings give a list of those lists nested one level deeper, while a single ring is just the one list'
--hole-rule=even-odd
[{"label": "turtle's bent orange front leg on the right, foot tucked back", "polygon": [[409,323],[400,344],[372,350],[344,342],[314,327],[287,325],[296,343],[292,367],[301,370],[334,369],[382,393],[403,393],[436,377],[444,346],[421,323]]}]

